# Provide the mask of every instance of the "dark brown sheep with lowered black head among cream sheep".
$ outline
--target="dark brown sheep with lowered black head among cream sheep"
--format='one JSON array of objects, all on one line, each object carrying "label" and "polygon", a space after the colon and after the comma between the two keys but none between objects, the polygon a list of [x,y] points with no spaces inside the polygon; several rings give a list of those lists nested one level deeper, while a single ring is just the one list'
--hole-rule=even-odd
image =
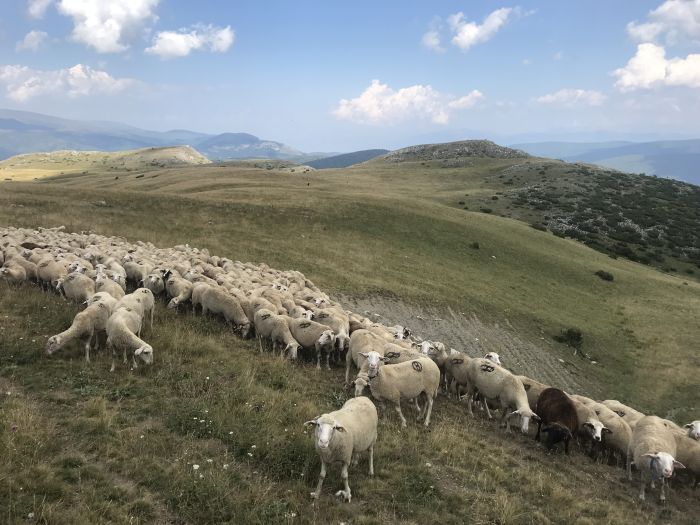
[{"label": "dark brown sheep with lowered black head among cream sheep", "polygon": [[564,451],[568,455],[569,441],[578,429],[576,408],[569,396],[558,388],[546,388],[537,400],[535,413],[540,418],[535,441],[540,440],[540,431],[547,432],[547,449],[564,441]]}]

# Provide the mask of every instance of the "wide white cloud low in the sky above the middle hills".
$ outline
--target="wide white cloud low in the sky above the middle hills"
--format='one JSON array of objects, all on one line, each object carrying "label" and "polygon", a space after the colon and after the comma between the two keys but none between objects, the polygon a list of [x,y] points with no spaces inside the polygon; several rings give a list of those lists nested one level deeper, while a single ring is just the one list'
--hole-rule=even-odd
[{"label": "wide white cloud low in the sky above the middle hills", "polygon": [[482,98],[483,94],[477,90],[455,98],[421,84],[394,91],[387,84],[373,80],[359,97],[342,99],[333,115],[341,120],[371,124],[391,124],[409,119],[447,124],[453,111],[470,108]]}]

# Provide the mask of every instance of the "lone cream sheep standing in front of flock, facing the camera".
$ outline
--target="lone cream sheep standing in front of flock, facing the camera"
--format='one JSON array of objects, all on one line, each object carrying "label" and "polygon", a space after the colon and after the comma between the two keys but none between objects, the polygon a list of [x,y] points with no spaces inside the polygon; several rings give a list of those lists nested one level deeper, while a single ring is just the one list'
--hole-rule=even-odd
[{"label": "lone cream sheep standing in front of flock, facing the camera", "polygon": [[374,444],[377,441],[377,409],[366,397],[348,399],[340,410],[315,417],[304,425],[315,427],[315,448],[321,458],[321,473],[316,490],[311,497],[318,499],[326,478],[326,465],[341,462],[340,477],[344,490],[336,492],[350,502],[350,484],[348,467],[350,462],[357,463],[362,452],[369,453],[369,475],[374,476]]}]

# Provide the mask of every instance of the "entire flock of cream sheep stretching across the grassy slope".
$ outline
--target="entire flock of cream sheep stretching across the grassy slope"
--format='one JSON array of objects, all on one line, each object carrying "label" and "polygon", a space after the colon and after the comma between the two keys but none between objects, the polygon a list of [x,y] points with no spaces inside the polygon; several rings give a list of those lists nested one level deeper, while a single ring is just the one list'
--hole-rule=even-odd
[{"label": "entire flock of cream sheep stretching across the grassy slope", "polygon": [[[360,453],[369,453],[374,474],[373,447],[377,439],[377,410],[391,403],[401,425],[406,418],[401,401],[412,401],[416,418],[428,427],[433,402],[442,391],[466,397],[491,418],[500,409],[507,431],[513,422],[527,433],[537,422],[536,439],[547,434],[547,446],[563,441],[590,442],[591,454],[603,451],[626,462],[628,476],[635,466],[641,473],[640,499],[647,480],[664,485],[675,469],[688,469],[694,484],[700,476],[700,421],[679,427],[657,416],[646,416],[619,401],[596,402],[569,395],[501,366],[500,356],[489,352],[472,358],[447,350],[442,343],[422,341],[402,326],[373,323],[343,309],[297,271],[278,271],[265,264],[232,261],[189,245],[161,249],[151,243],[128,243],[93,233],[66,233],[63,227],[37,230],[0,229],[0,278],[8,285],[36,282],[67,299],[85,304],[65,331],[50,337],[52,354],[71,341],[80,341],[85,358],[101,345],[112,353],[111,371],[121,351],[125,364],[154,361],[153,347],[141,338],[144,323],[153,324],[158,297],[169,298],[169,309],[201,308],[203,314],[223,317],[241,337],[255,334],[260,345],[289,360],[308,353],[320,369],[325,361],[345,361],[345,381],[355,397],[342,408],[320,415],[306,425],[315,427],[315,447],[321,458],[318,498],[327,465],[342,464],[344,489],[350,501],[348,467]],[[127,293],[127,290],[133,290]],[[358,370],[351,381],[351,370]]]}]

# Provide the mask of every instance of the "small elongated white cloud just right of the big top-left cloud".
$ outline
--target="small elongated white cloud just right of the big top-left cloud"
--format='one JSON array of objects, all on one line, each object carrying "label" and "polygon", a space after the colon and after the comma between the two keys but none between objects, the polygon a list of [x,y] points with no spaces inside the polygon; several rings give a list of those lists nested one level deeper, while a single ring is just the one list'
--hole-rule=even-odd
[{"label": "small elongated white cloud just right of the big top-left cloud", "polygon": [[209,49],[212,52],[227,51],[235,35],[230,26],[214,27],[196,25],[178,31],[161,31],[153,38],[153,45],[146,48],[146,53],[161,58],[175,58],[189,55],[194,50]]}]

